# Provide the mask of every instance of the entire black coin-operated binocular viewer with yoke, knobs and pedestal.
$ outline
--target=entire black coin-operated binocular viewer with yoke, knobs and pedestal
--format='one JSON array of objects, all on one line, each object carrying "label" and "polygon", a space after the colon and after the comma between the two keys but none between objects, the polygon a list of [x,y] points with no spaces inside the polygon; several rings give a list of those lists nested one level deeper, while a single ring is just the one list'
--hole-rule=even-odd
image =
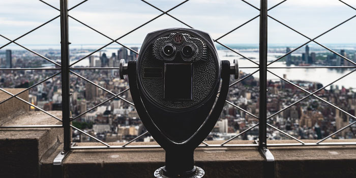
[{"label": "entire black coin-operated binocular viewer with yoke, knobs and pedestal", "polygon": [[152,32],[137,61],[120,61],[120,77],[129,77],[143,125],[166,151],[166,165],[155,171],[156,177],[204,175],[194,166],[194,150],[220,116],[230,74],[238,78],[237,61],[220,61],[210,35],[196,29]]}]

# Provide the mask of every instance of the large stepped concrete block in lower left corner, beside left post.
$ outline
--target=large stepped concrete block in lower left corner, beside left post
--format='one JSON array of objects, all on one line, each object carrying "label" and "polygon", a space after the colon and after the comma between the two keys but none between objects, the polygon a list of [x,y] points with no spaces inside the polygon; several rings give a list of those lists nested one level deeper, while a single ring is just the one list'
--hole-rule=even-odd
[{"label": "large stepped concrete block in lower left corner, beside left post", "polygon": [[[61,111],[49,111],[61,118]],[[12,117],[3,126],[56,125],[61,122],[41,111]],[[63,142],[62,128],[0,129],[0,177],[39,177],[42,156]]]}]

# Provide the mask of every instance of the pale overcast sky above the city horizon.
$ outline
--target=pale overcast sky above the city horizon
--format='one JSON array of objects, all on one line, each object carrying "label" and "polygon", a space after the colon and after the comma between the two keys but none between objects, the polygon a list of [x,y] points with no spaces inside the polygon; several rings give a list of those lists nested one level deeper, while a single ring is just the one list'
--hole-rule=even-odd
[{"label": "pale overcast sky above the city horizon", "polygon": [[[44,0],[59,8],[59,0]],[[356,7],[355,0],[343,0]],[[69,0],[69,7],[81,0]],[[147,0],[166,11],[182,0]],[[247,2],[259,7],[258,0]],[[269,7],[281,2],[269,0]],[[194,28],[208,32],[213,38],[229,32],[236,26],[258,15],[258,10],[238,0],[191,0],[169,12],[170,15]],[[0,34],[15,39],[60,13],[36,0],[2,0],[0,5]],[[142,23],[161,14],[160,11],[139,0],[89,0],[69,13],[82,22],[115,39]],[[310,38],[354,16],[356,11],[337,0],[288,0],[269,11],[269,15],[304,33]],[[258,44],[256,18],[247,25],[222,38],[225,44]],[[270,44],[302,44],[306,38],[269,19]],[[163,15],[137,31],[122,38],[124,44],[140,44],[145,35],[157,29],[187,27],[175,19]],[[334,29],[317,41],[323,44],[356,43],[356,17]],[[8,41],[0,37],[0,45]],[[72,44],[106,44],[109,39],[92,29],[70,19],[70,42]],[[60,19],[57,18],[35,32],[18,40],[20,44],[59,44]]]}]

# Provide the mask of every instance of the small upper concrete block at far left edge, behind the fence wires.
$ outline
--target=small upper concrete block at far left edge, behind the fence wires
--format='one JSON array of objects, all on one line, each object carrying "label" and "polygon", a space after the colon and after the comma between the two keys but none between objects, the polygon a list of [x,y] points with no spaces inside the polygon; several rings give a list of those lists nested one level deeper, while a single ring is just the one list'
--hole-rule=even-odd
[{"label": "small upper concrete block at far left edge, behind the fence wires", "polygon": [[[25,90],[25,88],[4,88],[4,90],[16,95],[17,93],[20,93]],[[0,91],[0,102],[10,97],[11,95]],[[18,97],[22,98],[25,101],[28,101],[28,91],[23,92],[22,94],[18,95]],[[29,110],[28,104],[15,97],[4,102],[0,106],[0,126],[12,120],[14,116],[18,116]]]}]

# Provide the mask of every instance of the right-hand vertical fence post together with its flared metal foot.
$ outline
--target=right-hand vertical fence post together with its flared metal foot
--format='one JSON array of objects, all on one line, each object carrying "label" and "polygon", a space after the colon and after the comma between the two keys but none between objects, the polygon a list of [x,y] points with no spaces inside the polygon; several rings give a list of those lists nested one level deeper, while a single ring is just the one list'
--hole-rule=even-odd
[{"label": "right-hand vertical fence post together with its flared metal foot", "polygon": [[260,0],[259,16],[259,152],[264,158],[264,177],[275,177],[275,158],[267,149],[267,0]]}]

